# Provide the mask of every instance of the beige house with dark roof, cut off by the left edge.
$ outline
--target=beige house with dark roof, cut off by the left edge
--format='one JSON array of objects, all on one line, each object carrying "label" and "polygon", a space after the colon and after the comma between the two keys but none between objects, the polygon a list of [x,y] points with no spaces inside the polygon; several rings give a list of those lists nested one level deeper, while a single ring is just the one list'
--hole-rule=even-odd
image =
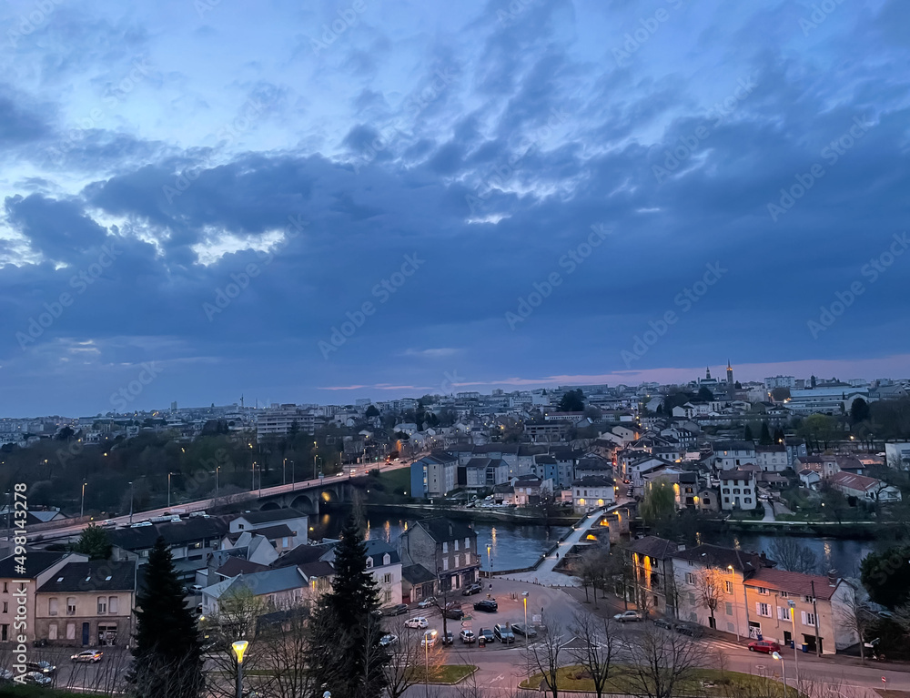
[{"label": "beige house with dark roof, cut off by the left edge", "polygon": [[[86,555],[26,549],[25,572],[14,556],[0,560],[0,642],[10,642],[25,631],[35,639],[35,624],[15,629],[15,616],[20,607],[27,618],[35,618],[35,590],[70,562],[84,562]],[[15,594],[15,595],[14,595]],[[25,594],[24,596],[21,594]],[[23,615],[19,613],[19,615]],[[21,620],[21,619],[20,619]]]}]

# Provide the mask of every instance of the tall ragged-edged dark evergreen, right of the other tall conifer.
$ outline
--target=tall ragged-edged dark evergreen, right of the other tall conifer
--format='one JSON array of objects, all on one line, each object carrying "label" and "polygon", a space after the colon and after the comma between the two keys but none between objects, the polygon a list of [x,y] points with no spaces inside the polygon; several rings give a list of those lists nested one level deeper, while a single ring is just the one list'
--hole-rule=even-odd
[{"label": "tall ragged-edged dark evergreen, right of the other tall conifer", "polygon": [[332,591],[318,602],[309,622],[310,671],[332,698],[376,698],[385,687],[389,655],[379,644],[379,592],[367,568],[367,547],[349,517],[335,547]]}]

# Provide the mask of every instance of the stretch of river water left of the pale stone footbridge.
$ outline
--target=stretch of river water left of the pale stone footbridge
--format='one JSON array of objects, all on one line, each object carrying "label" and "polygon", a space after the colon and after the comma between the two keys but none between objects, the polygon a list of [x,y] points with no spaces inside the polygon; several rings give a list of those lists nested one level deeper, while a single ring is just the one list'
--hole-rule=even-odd
[{"label": "stretch of river water left of the pale stone footbridge", "polygon": [[[319,533],[327,538],[337,538],[347,512],[333,511],[320,514],[316,524]],[[477,531],[477,549],[482,556],[484,570],[493,571],[517,570],[530,567],[541,554],[550,550],[561,536],[569,531],[568,526],[528,525],[501,521],[474,521]],[[393,546],[405,530],[405,519],[394,519],[388,516],[369,516],[367,519],[366,537],[386,541]],[[490,559],[487,557],[487,546],[490,546]]]}]

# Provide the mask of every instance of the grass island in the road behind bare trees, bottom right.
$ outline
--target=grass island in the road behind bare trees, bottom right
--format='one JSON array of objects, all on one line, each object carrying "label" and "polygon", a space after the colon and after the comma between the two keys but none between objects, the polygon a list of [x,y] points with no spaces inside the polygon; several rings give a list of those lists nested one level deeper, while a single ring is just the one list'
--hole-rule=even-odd
[{"label": "grass island in the road behind bare trees, bottom right", "polygon": [[[635,695],[638,691],[636,683],[630,678],[632,667],[618,664],[615,669],[611,670],[612,676],[604,687],[604,693],[618,693],[623,695]],[[535,673],[530,678],[521,682],[521,688],[537,688],[543,681],[543,674]],[[743,691],[744,694],[761,694],[759,690],[766,687],[767,682],[779,683],[774,679],[765,679],[761,676],[753,676],[750,673],[739,672],[721,672],[719,669],[694,669],[692,678],[680,683],[678,690],[679,695],[685,696],[709,696],[710,698],[723,698],[733,692]],[[594,681],[590,673],[587,673],[582,666],[564,666],[557,672],[557,683],[560,691],[566,692],[591,692],[594,691]],[[750,691],[751,689],[751,691]],[[794,689],[790,689],[793,698],[805,698],[797,696]],[[885,695],[883,693],[883,695]],[[898,696],[896,692],[889,691],[885,698],[910,698]]]}]

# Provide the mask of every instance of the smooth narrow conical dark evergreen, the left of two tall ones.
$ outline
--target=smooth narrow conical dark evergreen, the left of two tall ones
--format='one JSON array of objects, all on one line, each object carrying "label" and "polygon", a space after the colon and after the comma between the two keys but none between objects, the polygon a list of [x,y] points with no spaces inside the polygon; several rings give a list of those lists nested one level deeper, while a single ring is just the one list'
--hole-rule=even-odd
[{"label": "smooth narrow conical dark evergreen, the left of two tall ones", "polygon": [[197,698],[202,651],[196,621],[184,601],[163,538],[148,555],[145,584],[136,594],[136,645],[130,680],[140,698]]}]

